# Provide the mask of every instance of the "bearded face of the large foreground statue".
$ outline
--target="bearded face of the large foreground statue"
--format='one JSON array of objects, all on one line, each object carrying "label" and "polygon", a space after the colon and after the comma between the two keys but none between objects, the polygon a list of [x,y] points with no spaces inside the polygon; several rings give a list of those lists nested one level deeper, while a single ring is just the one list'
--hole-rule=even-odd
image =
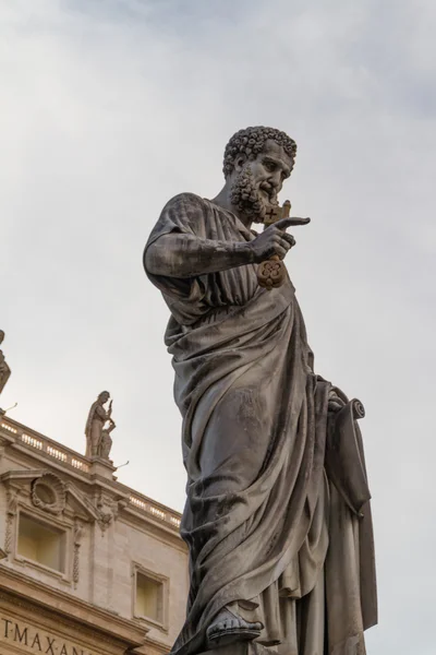
[{"label": "bearded face of the large foreground statue", "polygon": [[292,159],[281,145],[268,139],[253,162],[235,162],[231,202],[240,211],[262,222],[268,205],[278,204],[283,181],[291,175]]}]

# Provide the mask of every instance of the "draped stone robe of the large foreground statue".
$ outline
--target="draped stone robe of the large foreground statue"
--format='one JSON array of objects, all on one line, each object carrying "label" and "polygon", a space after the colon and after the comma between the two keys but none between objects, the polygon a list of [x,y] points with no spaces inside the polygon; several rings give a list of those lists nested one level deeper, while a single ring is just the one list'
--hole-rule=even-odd
[{"label": "draped stone robe of the large foreground statue", "polygon": [[[191,193],[166,205],[146,251],[169,234],[180,239],[174,257],[186,238],[255,238]],[[191,588],[172,653],[205,650],[207,627],[229,606],[262,621],[258,642],[283,655],[363,655],[377,611],[370,502],[353,511],[326,474],[334,388],[313,371],[290,279],[267,291],[255,264],[147,274],[171,311],[165,338],[187,472]]]}]

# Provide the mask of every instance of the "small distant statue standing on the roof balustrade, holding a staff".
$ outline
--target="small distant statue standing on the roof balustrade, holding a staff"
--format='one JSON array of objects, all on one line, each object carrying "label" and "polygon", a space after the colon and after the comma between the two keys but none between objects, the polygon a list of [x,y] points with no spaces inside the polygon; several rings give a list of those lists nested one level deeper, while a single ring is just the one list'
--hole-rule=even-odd
[{"label": "small distant statue standing on the roof balustrade, holding a staff", "polygon": [[109,408],[105,409],[109,398],[109,392],[102,391],[90,406],[85,427],[87,457],[109,460],[110,449],[112,448],[110,433],[117,427],[112,420],[112,401],[109,403]]}]

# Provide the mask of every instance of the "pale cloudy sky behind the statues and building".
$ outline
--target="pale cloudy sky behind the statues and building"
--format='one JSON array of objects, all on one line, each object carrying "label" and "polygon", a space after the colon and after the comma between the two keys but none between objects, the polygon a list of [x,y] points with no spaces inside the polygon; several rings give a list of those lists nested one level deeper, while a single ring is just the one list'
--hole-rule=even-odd
[{"label": "pale cloudy sky behind the statues and building", "polygon": [[119,479],[181,510],[168,311],[142,251],[171,195],[220,189],[228,138],[299,144],[288,267],[317,370],[360,397],[380,626],[434,655],[434,0],[0,0],[1,406],[84,452],[113,396]]}]

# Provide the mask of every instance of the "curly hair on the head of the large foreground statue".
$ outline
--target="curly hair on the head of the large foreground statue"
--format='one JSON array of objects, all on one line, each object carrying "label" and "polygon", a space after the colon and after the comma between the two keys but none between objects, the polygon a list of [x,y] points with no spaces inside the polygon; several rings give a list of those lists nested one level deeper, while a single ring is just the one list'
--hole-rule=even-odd
[{"label": "curly hair on the head of the large foreground statue", "polygon": [[245,128],[239,130],[230,139],[226,145],[225,160],[222,171],[225,178],[227,178],[234,168],[234,162],[240,154],[244,154],[249,160],[253,160],[264,150],[265,141],[271,139],[276,143],[282,146],[287,155],[292,159],[291,170],[293,168],[295,155],[296,155],[296,143],[288,136],[284,132],[276,130],[275,128],[265,128],[257,126],[255,128]]}]

